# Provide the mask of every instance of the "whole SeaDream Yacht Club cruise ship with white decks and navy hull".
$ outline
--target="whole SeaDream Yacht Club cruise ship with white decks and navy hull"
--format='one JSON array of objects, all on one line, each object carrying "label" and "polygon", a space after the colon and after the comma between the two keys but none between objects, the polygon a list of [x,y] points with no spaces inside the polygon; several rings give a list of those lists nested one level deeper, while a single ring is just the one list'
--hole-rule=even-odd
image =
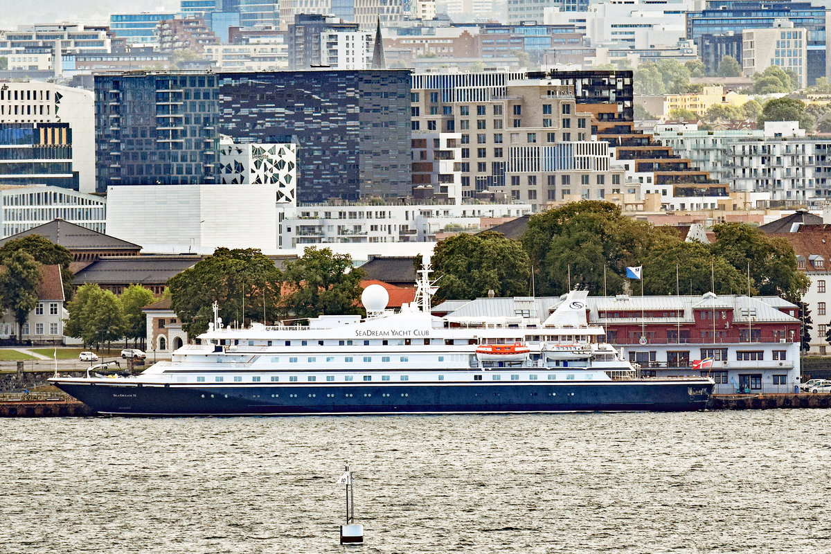
[{"label": "whole SeaDream Yacht Club cruise ship with white decks and navy hull", "polygon": [[50,381],[100,414],[451,414],[705,409],[708,377],[641,378],[589,326],[588,292],[564,295],[544,321],[433,316],[430,271],[414,302],[386,310],[380,285],[366,317],[307,326],[229,328],[214,321],[170,361],[140,375],[57,375]]}]

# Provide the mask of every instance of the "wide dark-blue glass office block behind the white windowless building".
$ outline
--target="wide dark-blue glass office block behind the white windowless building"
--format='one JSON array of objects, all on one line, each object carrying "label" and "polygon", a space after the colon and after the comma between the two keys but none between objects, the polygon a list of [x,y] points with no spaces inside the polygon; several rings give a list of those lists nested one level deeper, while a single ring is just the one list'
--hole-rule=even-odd
[{"label": "wide dark-blue glass office block behind the white windowless building", "polygon": [[411,194],[410,71],[96,75],[97,186],[217,182],[219,135],[297,141],[297,199]]}]

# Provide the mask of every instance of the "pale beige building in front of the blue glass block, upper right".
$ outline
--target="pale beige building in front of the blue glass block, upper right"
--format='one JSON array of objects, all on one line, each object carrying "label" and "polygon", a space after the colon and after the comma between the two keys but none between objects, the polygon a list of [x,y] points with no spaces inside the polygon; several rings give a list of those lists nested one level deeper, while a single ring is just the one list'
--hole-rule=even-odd
[{"label": "pale beige building in front of the blue glass block, upper right", "polygon": [[745,76],[770,66],[794,71],[799,88],[808,86],[808,30],[788,19],[774,19],[772,29],[745,29],[741,35],[741,65]]}]

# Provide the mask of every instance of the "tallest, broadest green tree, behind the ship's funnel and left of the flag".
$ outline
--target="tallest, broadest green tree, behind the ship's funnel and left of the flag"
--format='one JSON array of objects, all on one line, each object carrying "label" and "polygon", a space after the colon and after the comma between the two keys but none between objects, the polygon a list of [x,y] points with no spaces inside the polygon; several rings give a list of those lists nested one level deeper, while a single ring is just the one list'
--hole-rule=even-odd
[{"label": "tallest, broadest green tree, behind the ship's funnel and left of the flag", "polygon": [[626,267],[641,265],[649,249],[671,240],[671,234],[622,216],[613,203],[583,200],[535,214],[520,240],[534,266],[539,294],[568,292],[569,275],[572,287],[615,294],[623,292]]}]

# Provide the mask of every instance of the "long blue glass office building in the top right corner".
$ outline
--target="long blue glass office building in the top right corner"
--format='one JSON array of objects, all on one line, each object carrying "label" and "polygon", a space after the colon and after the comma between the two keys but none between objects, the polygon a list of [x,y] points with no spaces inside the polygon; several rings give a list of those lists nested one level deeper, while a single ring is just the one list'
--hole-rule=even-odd
[{"label": "long blue glass office building in the top right corner", "polygon": [[[774,19],[787,19],[808,29],[808,84],[826,75],[825,8],[789,0],[708,0],[701,12],[688,12],[686,37],[741,36],[745,29],[771,29]],[[712,39],[710,40],[712,42]],[[738,61],[741,61],[740,59]]]}]

